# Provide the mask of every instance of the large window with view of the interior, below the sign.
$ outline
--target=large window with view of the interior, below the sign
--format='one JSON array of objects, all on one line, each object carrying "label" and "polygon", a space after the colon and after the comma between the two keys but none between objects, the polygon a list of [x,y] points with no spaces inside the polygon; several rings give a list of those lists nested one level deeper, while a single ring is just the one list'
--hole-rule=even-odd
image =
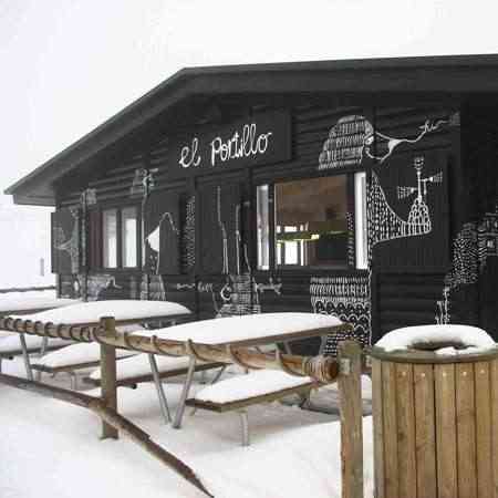
[{"label": "large window with view of the interior, below the sign", "polygon": [[[351,198],[353,195],[354,199]],[[271,201],[273,210],[269,209]],[[353,206],[354,234],[351,234],[349,211]],[[351,238],[354,238],[355,268],[365,269],[365,173],[258,186],[257,252],[260,270],[270,268],[271,227],[274,230],[274,266],[278,268],[347,268],[351,266]]]}]

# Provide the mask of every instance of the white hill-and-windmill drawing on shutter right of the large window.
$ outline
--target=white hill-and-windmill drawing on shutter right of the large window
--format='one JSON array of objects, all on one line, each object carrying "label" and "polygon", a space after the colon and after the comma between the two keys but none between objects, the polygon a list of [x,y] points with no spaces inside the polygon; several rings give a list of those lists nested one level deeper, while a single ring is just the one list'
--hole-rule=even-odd
[{"label": "white hill-and-windmill drawing on shutter right of the large window", "polygon": [[380,242],[423,236],[432,231],[430,211],[427,205],[427,185],[440,184],[443,181],[443,173],[439,172],[436,175],[424,178],[422,175],[423,167],[424,158],[415,157],[416,187],[397,187],[398,199],[416,194],[407,220],[401,218],[390,206],[377,175],[372,173],[372,185],[367,195],[370,251]]}]

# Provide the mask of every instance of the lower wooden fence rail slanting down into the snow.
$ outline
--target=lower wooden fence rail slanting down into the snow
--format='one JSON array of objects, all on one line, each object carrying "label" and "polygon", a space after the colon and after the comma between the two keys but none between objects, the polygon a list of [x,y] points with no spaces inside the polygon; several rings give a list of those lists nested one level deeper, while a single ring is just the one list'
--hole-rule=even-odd
[{"label": "lower wooden fence rail slanting down into the snow", "polygon": [[0,383],[90,409],[98,415],[106,424],[128,436],[149,455],[154,456],[164,465],[173,469],[176,474],[180,475],[205,495],[210,497],[214,496],[196,476],[194,470],[188,467],[188,465],[151,439],[151,436],[146,432],[142,430],[137,425],[120,415],[114,408],[106,406],[103,400],[89,396],[87,394],[64,390],[62,387],[43,384],[37,381],[28,381],[25,378],[7,374],[0,374]]}]

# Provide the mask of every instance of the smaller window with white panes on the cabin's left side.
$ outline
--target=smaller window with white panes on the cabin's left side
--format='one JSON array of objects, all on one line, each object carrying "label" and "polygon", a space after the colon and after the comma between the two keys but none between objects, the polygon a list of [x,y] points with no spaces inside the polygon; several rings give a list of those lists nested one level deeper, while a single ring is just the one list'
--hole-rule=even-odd
[{"label": "smaller window with white panes on the cabin's left side", "polygon": [[102,214],[103,267],[136,268],[138,264],[137,208],[106,209]]}]

